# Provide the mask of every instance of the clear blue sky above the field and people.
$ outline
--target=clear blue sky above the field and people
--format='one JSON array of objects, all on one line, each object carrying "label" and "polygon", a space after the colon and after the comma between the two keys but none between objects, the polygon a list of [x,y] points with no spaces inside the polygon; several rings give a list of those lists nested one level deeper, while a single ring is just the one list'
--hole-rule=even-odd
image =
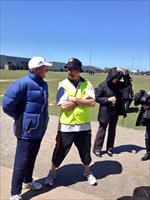
[{"label": "clear blue sky above the field and people", "polygon": [[149,0],[1,0],[1,54],[150,69]]}]

